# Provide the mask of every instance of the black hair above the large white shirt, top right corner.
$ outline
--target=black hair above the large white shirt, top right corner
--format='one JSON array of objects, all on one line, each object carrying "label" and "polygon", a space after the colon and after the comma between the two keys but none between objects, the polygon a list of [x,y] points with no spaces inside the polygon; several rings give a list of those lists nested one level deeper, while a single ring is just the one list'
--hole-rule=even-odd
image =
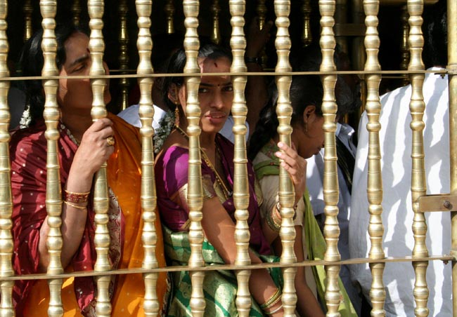
[{"label": "black hair above the large white shirt, top right corner", "polygon": [[439,0],[427,8],[424,16],[423,33],[425,45],[423,60],[425,67],[447,66],[447,1]]}]

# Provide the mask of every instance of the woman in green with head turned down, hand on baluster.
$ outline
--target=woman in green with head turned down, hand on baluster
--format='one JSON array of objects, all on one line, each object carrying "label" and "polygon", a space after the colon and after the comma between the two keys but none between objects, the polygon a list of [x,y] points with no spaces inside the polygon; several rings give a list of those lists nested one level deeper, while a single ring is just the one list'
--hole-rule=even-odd
[{"label": "woman in green with head turned down, hand on baluster", "polygon": [[[273,93],[277,95],[277,93]],[[273,97],[266,104],[260,114],[255,132],[250,140],[248,156],[252,159],[257,180],[259,180],[264,194],[264,203],[260,207],[261,217],[267,225],[264,232],[273,245],[276,254],[281,254],[281,214],[278,204],[278,175],[282,165],[291,175],[295,184],[295,255],[297,261],[304,259],[323,259],[326,251],[326,242],[321,234],[314,213],[309,203],[309,194],[306,189],[306,171],[309,158],[321,151],[324,142],[323,113],[321,109],[323,87],[321,79],[316,75],[293,76],[290,87],[290,102],[292,106],[292,147],[296,149],[295,156],[283,156],[278,147],[278,117],[276,115],[276,98]],[[280,161],[280,158],[282,161]],[[297,161],[297,167],[291,168],[288,160]],[[300,184],[300,186],[297,186]],[[299,267],[295,276],[297,297],[307,296],[309,286],[316,285],[318,299],[326,306],[326,271],[323,266],[313,267],[312,274],[304,267]],[[340,314],[345,317],[357,316],[352,303],[347,296],[344,286],[339,281],[342,301]],[[305,315],[309,309],[314,309],[309,302],[297,302],[300,315]],[[316,315],[314,315],[316,316]]]}]

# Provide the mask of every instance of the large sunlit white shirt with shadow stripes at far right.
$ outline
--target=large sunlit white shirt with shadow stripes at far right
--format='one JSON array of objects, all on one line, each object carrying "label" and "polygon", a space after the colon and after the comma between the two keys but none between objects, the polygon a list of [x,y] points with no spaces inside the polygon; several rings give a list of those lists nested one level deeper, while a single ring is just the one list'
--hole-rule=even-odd
[{"label": "large sunlit white shirt with shadow stripes at far right", "polygon": [[[437,69],[437,68],[435,68]],[[449,115],[448,79],[426,74],[423,95],[426,104],[424,135],[427,194],[449,194]],[[412,255],[414,238],[411,207],[411,86],[394,90],[381,97],[380,144],[382,168],[383,248],[386,257]],[[368,132],[366,114],[359,126],[356,167],[352,186],[352,208],[349,222],[351,257],[368,257]],[[430,255],[448,254],[451,249],[450,213],[425,213],[427,249]],[[371,272],[368,264],[352,265],[353,278],[361,284],[369,299]],[[411,262],[387,263],[384,271],[387,288],[386,316],[414,316],[415,281]],[[451,264],[430,262],[427,267],[429,316],[452,316]]]}]

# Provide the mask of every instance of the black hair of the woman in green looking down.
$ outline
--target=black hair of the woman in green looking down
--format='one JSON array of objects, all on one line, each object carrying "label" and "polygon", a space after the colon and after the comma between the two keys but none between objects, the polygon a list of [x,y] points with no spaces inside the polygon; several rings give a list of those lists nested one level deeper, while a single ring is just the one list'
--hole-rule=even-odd
[{"label": "black hair of the woman in green looking down", "polygon": [[[276,88],[269,89],[271,97],[259,114],[259,121],[249,142],[247,156],[253,160],[257,152],[277,134],[279,126],[276,114],[277,91]],[[291,126],[303,125],[304,110],[312,105],[316,107],[317,116],[323,116],[322,112],[323,87],[321,78],[318,75],[297,75],[292,76],[290,85],[290,106],[292,107]]]}]

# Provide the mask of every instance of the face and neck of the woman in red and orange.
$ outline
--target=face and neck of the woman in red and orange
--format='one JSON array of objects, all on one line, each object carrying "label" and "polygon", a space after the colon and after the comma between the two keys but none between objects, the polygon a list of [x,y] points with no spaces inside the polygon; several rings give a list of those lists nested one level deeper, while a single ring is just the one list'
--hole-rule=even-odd
[{"label": "face and neck of the woman in red and orange", "polygon": [[[65,41],[66,60],[60,69],[60,76],[89,75],[91,54],[89,53],[89,37],[76,32]],[[108,67],[103,63],[106,74]],[[57,100],[63,113],[87,114],[92,107],[92,88],[89,79],[59,79]],[[111,95],[108,85],[104,93],[105,104],[110,102]]]}]

